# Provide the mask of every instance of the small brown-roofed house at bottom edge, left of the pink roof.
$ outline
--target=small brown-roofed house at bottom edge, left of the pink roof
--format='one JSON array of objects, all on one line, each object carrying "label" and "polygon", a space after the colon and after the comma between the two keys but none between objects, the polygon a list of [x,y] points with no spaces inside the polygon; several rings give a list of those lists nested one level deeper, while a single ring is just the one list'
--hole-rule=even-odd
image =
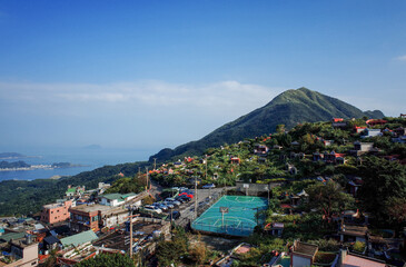
[{"label": "small brown-roofed house at bottom edge, left of the pink roof", "polygon": [[316,245],[295,240],[290,254],[290,267],[313,266],[317,251],[318,247]]}]

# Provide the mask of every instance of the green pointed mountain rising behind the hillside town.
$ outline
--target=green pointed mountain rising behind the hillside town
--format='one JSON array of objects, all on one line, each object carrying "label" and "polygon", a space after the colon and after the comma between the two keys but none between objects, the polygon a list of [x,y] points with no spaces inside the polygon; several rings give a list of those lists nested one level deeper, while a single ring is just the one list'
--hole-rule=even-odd
[{"label": "green pointed mountain rising behind the hillside town", "polygon": [[228,122],[200,140],[190,141],[175,149],[165,148],[149,158],[168,160],[172,157],[201,155],[207,148],[238,142],[245,138],[254,138],[274,132],[277,125],[287,129],[300,122],[327,121],[331,118],[383,118],[379,110],[365,111],[339,99],[325,96],[307,88],[287,90],[274,98],[266,106],[258,108],[235,121]]}]

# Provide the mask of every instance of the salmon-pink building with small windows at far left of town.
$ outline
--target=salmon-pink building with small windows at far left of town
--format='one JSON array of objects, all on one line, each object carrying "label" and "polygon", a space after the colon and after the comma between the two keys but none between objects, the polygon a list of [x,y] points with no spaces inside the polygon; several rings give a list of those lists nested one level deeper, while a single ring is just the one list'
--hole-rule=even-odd
[{"label": "salmon-pink building with small windows at far left of town", "polygon": [[62,200],[60,202],[44,205],[41,211],[41,221],[52,225],[69,219],[69,208],[71,206],[72,200]]}]

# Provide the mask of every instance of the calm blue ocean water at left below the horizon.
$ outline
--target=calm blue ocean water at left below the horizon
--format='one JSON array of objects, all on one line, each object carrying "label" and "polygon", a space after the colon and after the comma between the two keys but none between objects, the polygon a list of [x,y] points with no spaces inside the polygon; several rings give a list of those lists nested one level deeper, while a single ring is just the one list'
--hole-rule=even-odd
[{"label": "calm blue ocean water at left below the horizon", "polygon": [[0,159],[9,162],[22,160],[29,165],[51,165],[53,162],[70,162],[80,165],[80,167],[56,168],[56,169],[34,169],[34,170],[16,170],[0,171],[0,181],[2,180],[33,180],[48,179],[52,176],[75,176],[82,171],[93,170],[106,165],[118,165],[135,161],[148,160],[150,155],[158,150],[122,149],[122,148],[36,148],[20,149],[18,151],[7,150],[0,152],[18,152],[27,158]]}]

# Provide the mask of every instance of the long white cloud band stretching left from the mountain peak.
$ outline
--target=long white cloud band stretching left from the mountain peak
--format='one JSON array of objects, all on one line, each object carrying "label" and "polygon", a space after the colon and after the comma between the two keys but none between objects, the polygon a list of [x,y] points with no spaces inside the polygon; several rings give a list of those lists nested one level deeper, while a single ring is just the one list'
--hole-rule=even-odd
[{"label": "long white cloud band stretching left from the mountain peak", "polygon": [[6,83],[0,99],[32,102],[138,103],[147,107],[257,108],[270,101],[283,88],[268,88],[238,81],[208,85],[164,81],[95,83]]}]

